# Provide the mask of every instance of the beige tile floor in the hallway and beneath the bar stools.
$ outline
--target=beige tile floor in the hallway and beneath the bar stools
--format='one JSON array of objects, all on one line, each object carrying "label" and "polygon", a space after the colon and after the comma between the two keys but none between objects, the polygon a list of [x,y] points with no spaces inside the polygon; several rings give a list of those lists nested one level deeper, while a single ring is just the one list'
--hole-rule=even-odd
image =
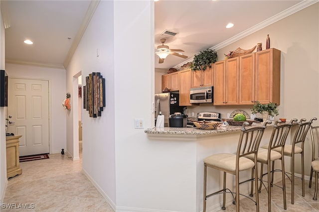
[{"label": "beige tile floor in the hallway and beneath the bar stools", "polygon": [[[3,204],[16,204],[16,208],[18,204],[28,204],[29,209],[0,207],[1,212],[114,212],[81,172],[81,151],[80,160],[77,161],[72,161],[68,155],[50,154],[49,156],[50,159],[20,163],[22,175],[8,180]],[[313,200],[315,185],[309,188],[308,183],[306,181],[305,197],[302,197],[301,180],[296,178],[295,204],[292,205],[291,183],[286,180],[287,210],[283,208],[282,190],[276,186],[273,187],[272,212],[319,212],[319,200]],[[267,212],[268,200],[265,190],[262,190],[259,195],[259,201],[260,212]],[[242,212],[256,211],[254,203],[247,198],[240,203]],[[235,205],[226,207],[226,212],[235,211]]]}]

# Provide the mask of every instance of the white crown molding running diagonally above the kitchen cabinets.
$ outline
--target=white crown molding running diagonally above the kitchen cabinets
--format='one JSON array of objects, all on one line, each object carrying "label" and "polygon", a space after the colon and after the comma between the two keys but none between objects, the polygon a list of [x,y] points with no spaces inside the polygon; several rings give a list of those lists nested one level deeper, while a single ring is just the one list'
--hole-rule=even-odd
[{"label": "white crown molding running diagonally above the kitchen cabinets", "polygon": [[[311,6],[311,5],[313,5],[313,4],[317,3],[317,2],[319,2],[319,0],[303,0],[300,3],[288,8],[288,9],[286,9],[286,10],[284,10],[284,11],[282,11],[282,12],[280,12],[280,13],[278,13],[278,14],[276,14],[276,15],[274,15],[274,16],[272,16],[272,17],[270,17],[270,18],[268,18],[268,19],[266,19],[266,20],[264,20],[264,21],[262,21],[260,23],[258,23],[258,24],[256,24],[255,26],[252,26],[249,29],[247,29],[247,30],[245,30],[245,31],[243,31],[243,32],[241,32],[241,33],[239,33],[239,34],[237,34],[237,35],[235,35],[235,36],[233,36],[233,37],[231,37],[231,38],[229,38],[229,39],[227,39],[227,40],[225,40],[225,41],[223,41],[223,42],[221,42],[221,43],[219,43],[219,44],[217,44],[215,46],[213,46],[213,47],[211,47],[210,49],[218,50],[218,49],[221,49],[221,48],[223,48],[225,46],[228,46],[228,45],[234,43],[237,40],[240,40],[240,39],[242,39],[242,38],[244,38],[244,37],[256,32],[256,31],[258,31],[258,30],[260,30],[262,28],[265,28],[266,26],[269,26],[270,24],[273,24],[273,23],[275,23],[275,22],[277,22],[277,21],[279,21],[279,20],[281,20],[281,19],[283,19],[283,18],[285,18],[285,17],[287,17],[289,15],[292,15],[295,12],[298,12],[298,11],[308,7],[308,6]],[[174,66],[173,68],[180,69],[180,67],[183,64],[188,63],[188,62],[192,62],[193,60],[194,60],[194,57],[189,58],[188,60],[186,60],[183,63],[180,63],[180,64]]]}]

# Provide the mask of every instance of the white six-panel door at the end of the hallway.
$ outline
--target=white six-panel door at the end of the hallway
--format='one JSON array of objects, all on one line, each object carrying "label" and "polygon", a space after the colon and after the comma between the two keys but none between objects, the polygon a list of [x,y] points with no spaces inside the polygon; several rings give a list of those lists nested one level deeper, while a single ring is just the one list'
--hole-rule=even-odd
[{"label": "white six-panel door at the end of the hallway", "polygon": [[49,83],[8,79],[8,132],[22,135],[20,156],[49,153]]}]

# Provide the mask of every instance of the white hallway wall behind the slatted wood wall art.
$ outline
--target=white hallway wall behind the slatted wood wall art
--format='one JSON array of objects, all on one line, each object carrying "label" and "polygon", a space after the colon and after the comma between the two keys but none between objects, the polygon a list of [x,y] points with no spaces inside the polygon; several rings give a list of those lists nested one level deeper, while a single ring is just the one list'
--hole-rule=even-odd
[{"label": "white hallway wall behind the slatted wood wall art", "polygon": [[[82,110],[83,171],[102,192],[113,207],[116,204],[115,191],[115,95],[114,95],[114,35],[113,1],[101,1],[79,43],[68,67],[67,88],[72,88],[74,75],[81,71],[82,85],[85,77],[92,72],[100,72],[105,78],[106,107],[102,116],[89,117]],[[96,56],[97,49],[100,56]],[[122,61],[123,62],[123,61]],[[128,65],[128,64],[127,64]],[[128,68],[128,67],[127,67]],[[129,70],[129,69],[127,69]],[[120,71],[126,77],[125,71]],[[119,82],[121,84],[121,82]],[[76,83],[77,86],[77,83]],[[125,85],[124,89],[127,89]],[[75,95],[75,94],[71,94]],[[77,94],[76,94],[77,95]],[[75,105],[75,104],[74,104]],[[72,119],[67,117],[68,128],[72,128]],[[78,119],[76,119],[77,122]],[[75,127],[78,127],[77,125]],[[72,132],[68,131],[68,146],[72,145]]]}]

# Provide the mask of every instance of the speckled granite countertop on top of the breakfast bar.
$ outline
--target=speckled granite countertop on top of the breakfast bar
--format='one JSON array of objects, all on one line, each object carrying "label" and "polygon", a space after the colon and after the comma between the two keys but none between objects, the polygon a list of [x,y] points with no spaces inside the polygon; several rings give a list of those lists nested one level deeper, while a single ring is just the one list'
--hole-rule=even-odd
[{"label": "speckled granite countertop on top of the breakfast bar", "polygon": [[[261,126],[261,124],[255,124],[254,126]],[[270,125],[268,125],[270,126]],[[252,126],[247,126],[246,129]],[[144,132],[148,134],[170,134],[170,135],[209,135],[218,134],[224,132],[239,131],[241,126],[230,126],[217,127],[217,129],[198,129],[196,127],[164,127],[164,128],[149,128],[145,129]]]}]

